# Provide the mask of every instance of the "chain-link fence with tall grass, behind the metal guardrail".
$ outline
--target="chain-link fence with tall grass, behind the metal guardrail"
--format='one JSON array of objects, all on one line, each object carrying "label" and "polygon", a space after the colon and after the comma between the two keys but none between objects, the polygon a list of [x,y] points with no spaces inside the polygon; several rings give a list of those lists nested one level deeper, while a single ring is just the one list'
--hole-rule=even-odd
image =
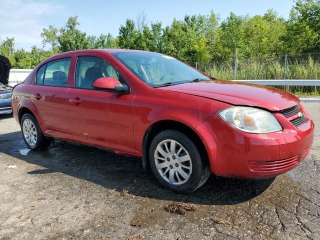
[{"label": "chain-link fence with tall grass, behind the metal guardrail", "polygon": [[[236,57],[229,60],[194,62],[192,65],[217,79],[319,79],[320,53],[285,54],[268,57]],[[314,92],[314,86],[280,87],[294,92]]]}]

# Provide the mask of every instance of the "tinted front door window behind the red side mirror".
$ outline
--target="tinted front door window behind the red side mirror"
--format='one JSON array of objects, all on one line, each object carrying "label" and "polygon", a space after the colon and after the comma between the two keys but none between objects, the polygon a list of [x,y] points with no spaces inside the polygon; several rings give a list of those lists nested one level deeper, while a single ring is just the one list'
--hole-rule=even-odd
[{"label": "tinted front door window behind the red side mirror", "polygon": [[76,62],[75,87],[92,89],[99,77],[112,76],[123,82],[122,76],[108,62],[96,56],[79,56]]}]

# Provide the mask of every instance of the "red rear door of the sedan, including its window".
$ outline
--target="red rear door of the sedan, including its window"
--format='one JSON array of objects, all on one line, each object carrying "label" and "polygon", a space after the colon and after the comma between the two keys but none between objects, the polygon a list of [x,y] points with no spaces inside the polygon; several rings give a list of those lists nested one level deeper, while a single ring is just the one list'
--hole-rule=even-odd
[{"label": "red rear door of the sedan, including its window", "polygon": [[70,63],[71,55],[44,63],[29,88],[44,134],[63,139],[71,139],[66,109]]}]

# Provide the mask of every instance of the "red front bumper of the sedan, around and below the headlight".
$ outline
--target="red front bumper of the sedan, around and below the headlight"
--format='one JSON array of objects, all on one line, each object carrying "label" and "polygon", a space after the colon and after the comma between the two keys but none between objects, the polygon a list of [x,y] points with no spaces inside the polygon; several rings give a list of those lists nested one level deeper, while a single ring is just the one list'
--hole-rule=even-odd
[{"label": "red front bumper of the sedan, around and below the headlight", "polygon": [[274,114],[282,131],[252,134],[235,129],[218,114],[196,128],[208,152],[211,171],[220,176],[263,178],[284,173],[301,162],[312,141],[314,124],[309,114],[298,127]]}]

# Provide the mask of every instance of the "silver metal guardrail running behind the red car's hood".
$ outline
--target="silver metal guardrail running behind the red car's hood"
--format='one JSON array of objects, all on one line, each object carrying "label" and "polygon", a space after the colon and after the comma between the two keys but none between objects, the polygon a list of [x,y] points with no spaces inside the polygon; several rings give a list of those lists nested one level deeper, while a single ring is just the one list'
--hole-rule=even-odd
[{"label": "silver metal guardrail running behind the red car's hood", "polygon": [[320,86],[320,80],[232,80],[236,82],[247,82],[265,86]]}]

